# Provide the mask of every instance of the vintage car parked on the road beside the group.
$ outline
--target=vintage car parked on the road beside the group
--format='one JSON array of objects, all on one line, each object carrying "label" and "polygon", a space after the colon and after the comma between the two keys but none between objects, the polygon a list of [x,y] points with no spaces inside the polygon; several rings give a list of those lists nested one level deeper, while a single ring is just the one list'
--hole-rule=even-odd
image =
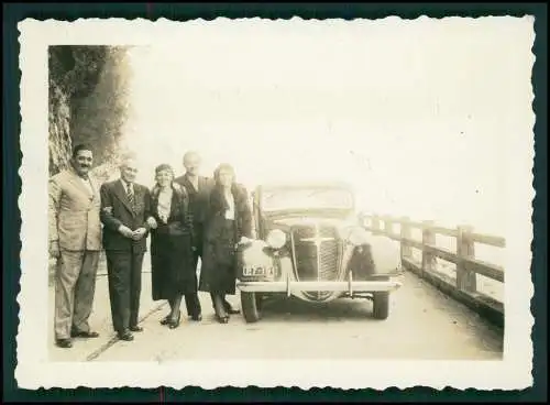
[{"label": "vintage car parked on the road beside the group", "polygon": [[268,296],[311,303],[342,297],[373,300],[386,319],[389,293],[400,286],[400,247],[374,236],[355,212],[343,183],[261,185],[252,193],[255,238],[238,248],[241,308],[248,322],[261,318]]}]

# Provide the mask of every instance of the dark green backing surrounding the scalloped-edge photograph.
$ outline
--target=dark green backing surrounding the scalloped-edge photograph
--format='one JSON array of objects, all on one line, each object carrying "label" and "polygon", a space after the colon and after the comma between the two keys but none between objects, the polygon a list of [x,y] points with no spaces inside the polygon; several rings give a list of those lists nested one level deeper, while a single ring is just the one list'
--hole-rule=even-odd
[{"label": "dark green backing surrounding the scalloped-edge photograph", "polygon": [[[175,402],[185,398],[190,401],[237,402],[237,401],[315,401],[315,402],[386,402],[406,398],[414,402],[430,401],[531,401],[547,399],[547,72],[548,72],[548,10],[546,3],[3,3],[3,136],[2,136],[2,237],[3,237],[3,272],[2,272],[2,340],[3,340],[3,402]],[[534,110],[537,114],[535,124],[535,180],[536,198],[534,200],[534,241],[531,276],[535,284],[535,296],[531,310],[535,315],[532,341],[534,379],[532,388],[524,391],[477,391],[431,387],[414,387],[408,390],[333,390],[312,388],[302,391],[295,388],[233,388],[223,387],[206,391],[200,387],[186,387],[180,391],[160,387],[152,390],[112,388],[91,390],[21,390],[14,380],[15,336],[18,331],[19,306],[15,300],[19,294],[20,249],[19,238],[21,212],[18,198],[21,193],[21,179],[18,171],[21,164],[19,147],[20,134],[20,70],[19,70],[19,31],[18,22],[25,18],[37,20],[56,19],[74,21],[79,18],[143,18],[156,20],[186,21],[197,18],[211,20],[226,18],[268,18],[289,19],[380,19],[398,15],[404,19],[416,19],[420,15],[430,18],[444,17],[485,17],[485,15],[535,15],[536,40],[532,48],[536,62],[532,72],[535,91]]]}]

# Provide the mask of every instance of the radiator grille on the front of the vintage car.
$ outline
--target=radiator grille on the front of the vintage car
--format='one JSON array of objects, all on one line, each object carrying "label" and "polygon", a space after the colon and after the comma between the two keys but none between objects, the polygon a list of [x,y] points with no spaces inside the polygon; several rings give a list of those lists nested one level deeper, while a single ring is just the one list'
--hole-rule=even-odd
[{"label": "radiator grille on the front of the vintage car", "polygon": [[[323,241],[323,238],[332,240]],[[298,280],[338,278],[339,240],[334,228],[296,227],[293,229],[293,240]]]}]

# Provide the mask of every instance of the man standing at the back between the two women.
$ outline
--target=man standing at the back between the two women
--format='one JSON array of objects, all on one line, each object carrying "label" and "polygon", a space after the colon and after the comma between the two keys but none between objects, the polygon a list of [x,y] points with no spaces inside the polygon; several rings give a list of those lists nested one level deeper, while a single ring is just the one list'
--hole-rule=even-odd
[{"label": "man standing at the back between the two women", "polygon": [[[185,174],[175,179],[176,183],[184,186],[189,195],[189,211],[193,217],[193,226],[195,231],[195,266],[198,264],[199,258],[202,261],[202,242],[206,217],[208,214],[208,202],[210,191],[213,187],[213,180],[199,175],[200,156],[197,152],[189,151],[184,155]],[[198,281],[196,281],[198,284]],[[212,298],[213,299],[213,298]],[[187,314],[194,320],[201,320],[200,303],[197,294],[188,294],[185,296]],[[213,300],[212,300],[213,303]],[[233,309],[231,305],[224,302],[226,310],[230,314],[239,314],[239,310]]]}]

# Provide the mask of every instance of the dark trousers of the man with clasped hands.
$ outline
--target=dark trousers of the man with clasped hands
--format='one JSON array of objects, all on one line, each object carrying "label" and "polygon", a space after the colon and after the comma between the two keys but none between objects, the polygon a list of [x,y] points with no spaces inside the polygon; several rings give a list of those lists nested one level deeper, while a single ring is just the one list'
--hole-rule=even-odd
[{"label": "dark trousers of the man with clasped hands", "polygon": [[144,252],[107,251],[112,326],[119,333],[138,326]]}]

